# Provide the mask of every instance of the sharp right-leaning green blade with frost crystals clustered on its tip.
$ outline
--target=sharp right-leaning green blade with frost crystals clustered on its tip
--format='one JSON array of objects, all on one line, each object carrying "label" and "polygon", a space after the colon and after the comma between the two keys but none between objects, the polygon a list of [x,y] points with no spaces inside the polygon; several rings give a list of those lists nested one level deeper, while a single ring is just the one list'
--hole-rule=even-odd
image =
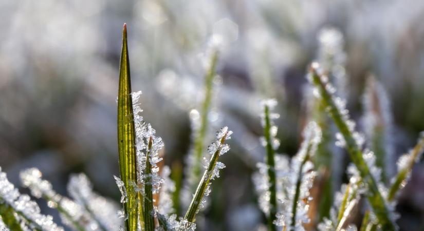
[{"label": "sharp right-leaning green blade with frost crystals clustered on its tip", "polygon": [[[213,151],[213,155],[209,161],[207,169],[205,170],[198,186],[194,197],[190,203],[190,206],[187,210],[186,216],[184,217],[189,222],[194,222],[195,216],[202,205],[202,199],[205,196],[205,192],[209,191],[210,181],[214,177],[218,177],[219,168],[222,166],[217,166],[218,157],[223,155],[224,152],[228,151],[228,145],[225,145],[225,140],[230,139],[232,131],[228,130],[227,127],[224,127],[216,132],[216,140],[208,147],[208,150]],[[216,150],[215,150],[216,149]],[[209,192],[208,192],[209,193]]]}]

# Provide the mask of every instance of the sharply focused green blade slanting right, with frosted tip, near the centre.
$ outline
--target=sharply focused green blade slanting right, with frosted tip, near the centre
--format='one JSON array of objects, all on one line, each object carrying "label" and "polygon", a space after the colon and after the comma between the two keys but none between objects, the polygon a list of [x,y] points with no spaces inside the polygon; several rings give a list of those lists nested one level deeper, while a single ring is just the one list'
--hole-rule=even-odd
[{"label": "sharply focused green blade slanting right, with frosted tip, near the centre", "polygon": [[[224,134],[222,134],[222,137],[218,136],[218,132],[220,131],[225,131]],[[217,146],[216,151],[213,153],[210,161],[209,161],[209,165],[207,167],[207,169],[205,170],[198,186],[196,189],[196,192],[194,194],[194,197],[189,205],[189,208],[187,209],[186,215],[185,215],[185,219],[189,222],[194,222],[195,220],[195,216],[199,210],[199,206],[202,203],[202,199],[205,195],[205,191],[207,190],[207,188],[209,187],[209,183],[212,179],[212,177],[214,176],[214,171],[215,171],[215,166],[216,163],[218,162],[218,157],[220,155],[222,155],[222,150],[224,147],[224,143],[226,139],[229,139],[232,131],[229,131],[228,128],[224,127],[222,130],[220,130],[217,132],[217,138],[218,140],[216,140],[215,142],[213,142],[211,145],[215,145],[216,143],[219,143]],[[224,151],[224,150],[223,150]]]}]

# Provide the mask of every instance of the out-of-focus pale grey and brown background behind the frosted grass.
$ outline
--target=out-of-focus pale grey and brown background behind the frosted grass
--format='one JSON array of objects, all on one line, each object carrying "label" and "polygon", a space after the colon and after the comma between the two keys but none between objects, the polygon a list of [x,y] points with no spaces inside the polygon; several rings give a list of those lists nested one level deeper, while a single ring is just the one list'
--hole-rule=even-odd
[{"label": "out-of-focus pale grey and brown background behind the frosted grass", "polygon": [[[0,166],[16,185],[21,169],[38,167],[66,195],[69,174],[85,172],[95,190],[119,200],[113,175],[123,23],[133,91],[143,91],[144,120],[163,138],[173,171],[191,147],[190,111],[204,95],[209,41],[214,33],[225,38],[208,133],[228,126],[234,134],[200,230],[257,230],[264,223],[251,182],[264,157],[260,100],[279,101],[279,152],[294,155],[305,120],[305,74],[324,28],[344,36],[343,94],[358,129],[372,73],[391,102],[395,156],[424,130],[423,1],[0,0],[0,15]],[[344,169],[348,158],[342,160]],[[402,230],[424,230],[422,182],[420,162],[397,206]]]}]

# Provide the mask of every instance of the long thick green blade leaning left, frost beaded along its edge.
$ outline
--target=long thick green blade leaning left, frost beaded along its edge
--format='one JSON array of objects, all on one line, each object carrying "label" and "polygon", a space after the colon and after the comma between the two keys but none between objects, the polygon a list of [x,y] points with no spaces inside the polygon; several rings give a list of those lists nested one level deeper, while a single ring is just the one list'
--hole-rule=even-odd
[{"label": "long thick green blade leaning left, frost beaded along its edge", "polygon": [[337,107],[333,95],[328,91],[329,85],[323,81],[324,78],[318,73],[319,65],[314,63],[310,68],[310,81],[318,89],[320,97],[324,105],[328,109],[330,117],[335,122],[337,128],[342,134],[349,157],[359,170],[362,181],[368,186],[368,201],[376,214],[379,223],[382,225],[383,230],[396,230],[396,225],[390,219],[390,211],[386,207],[386,202],[382,197],[377,182],[371,175],[370,169],[364,161],[362,150],[354,139],[353,132],[349,129],[347,121],[342,115],[342,112]]}]

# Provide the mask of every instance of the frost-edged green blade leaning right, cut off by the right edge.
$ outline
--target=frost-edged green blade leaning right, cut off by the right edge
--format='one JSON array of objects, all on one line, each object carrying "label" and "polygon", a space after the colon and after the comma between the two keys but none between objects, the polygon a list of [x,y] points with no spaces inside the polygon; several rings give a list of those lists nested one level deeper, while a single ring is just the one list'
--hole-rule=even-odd
[{"label": "frost-edged green blade leaning right, cut off by the right edge", "polygon": [[[410,175],[412,167],[419,160],[419,157],[424,149],[424,134],[421,133],[421,138],[418,140],[417,145],[415,145],[414,149],[411,150],[410,153],[403,156],[405,158],[406,163],[404,163],[403,168],[399,169],[398,174],[395,177],[395,180],[390,187],[388,200],[393,201],[396,197],[396,193],[401,189]],[[402,158],[402,157],[401,157]],[[402,160],[400,160],[402,161]]]}]

